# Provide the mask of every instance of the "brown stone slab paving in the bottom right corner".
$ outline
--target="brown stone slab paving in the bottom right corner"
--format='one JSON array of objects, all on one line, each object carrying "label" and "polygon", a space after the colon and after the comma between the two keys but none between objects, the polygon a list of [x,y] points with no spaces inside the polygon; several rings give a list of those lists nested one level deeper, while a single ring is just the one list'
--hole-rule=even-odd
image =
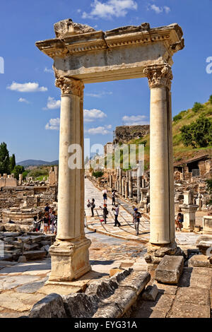
[{"label": "brown stone slab paving in the bottom right corner", "polygon": [[131,318],[210,318],[212,269],[184,268],[178,285],[157,283],[155,301],[140,300]]}]

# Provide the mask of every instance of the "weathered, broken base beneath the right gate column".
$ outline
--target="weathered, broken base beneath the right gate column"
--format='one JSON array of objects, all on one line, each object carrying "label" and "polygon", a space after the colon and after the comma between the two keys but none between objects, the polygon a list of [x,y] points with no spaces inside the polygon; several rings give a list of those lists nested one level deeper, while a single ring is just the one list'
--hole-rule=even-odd
[{"label": "weathered, broken base beneath the right gate column", "polygon": [[144,256],[146,263],[148,263],[148,271],[153,271],[157,268],[160,261],[165,255],[180,256],[183,251],[177,247],[175,241],[169,244],[148,244],[147,254]]}]

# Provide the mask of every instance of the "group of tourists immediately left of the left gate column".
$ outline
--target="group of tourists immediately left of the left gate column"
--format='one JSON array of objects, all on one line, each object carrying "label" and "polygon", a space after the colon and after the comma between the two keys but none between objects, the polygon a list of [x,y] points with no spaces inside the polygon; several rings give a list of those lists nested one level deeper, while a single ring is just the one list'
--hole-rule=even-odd
[{"label": "group of tourists immediately left of the left gate column", "polygon": [[[34,231],[39,232],[41,225],[43,224],[43,232],[45,234],[50,233],[57,235],[57,213],[49,206],[49,203],[45,205],[44,215],[39,214],[39,220],[37,220],[37,215],[34,217],[33,226]],[[50,230],[51,228],[51,230]]]}]

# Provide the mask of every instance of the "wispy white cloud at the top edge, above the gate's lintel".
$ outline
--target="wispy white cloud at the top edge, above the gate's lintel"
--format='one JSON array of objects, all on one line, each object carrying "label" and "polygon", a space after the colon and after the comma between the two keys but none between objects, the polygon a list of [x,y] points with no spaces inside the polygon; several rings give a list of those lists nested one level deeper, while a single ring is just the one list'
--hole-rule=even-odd
[{"label": "wispy white cloud at the top edge, above the gate's lintel", "polygon": [[93,4],[90,4],[92,10],[90,13],[83,12],[82,18],[112,18],[126,16],[128,10],[138,8],[136,1],[134,0],[107,0],[102,3],[99,0],[94,0]]}]

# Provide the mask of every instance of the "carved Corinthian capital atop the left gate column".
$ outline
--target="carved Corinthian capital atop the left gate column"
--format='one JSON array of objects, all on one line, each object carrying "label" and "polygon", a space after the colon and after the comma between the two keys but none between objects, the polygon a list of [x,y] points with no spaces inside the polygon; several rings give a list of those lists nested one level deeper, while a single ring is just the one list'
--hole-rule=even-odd
[{"label": "carved Corinthian capital atop the left gate column", "polygon": [[55,80],[57,88],[61,89],[61,95],[77,95],[83,97],[84,84],[83,81],[73,78],[59,77]]}]

